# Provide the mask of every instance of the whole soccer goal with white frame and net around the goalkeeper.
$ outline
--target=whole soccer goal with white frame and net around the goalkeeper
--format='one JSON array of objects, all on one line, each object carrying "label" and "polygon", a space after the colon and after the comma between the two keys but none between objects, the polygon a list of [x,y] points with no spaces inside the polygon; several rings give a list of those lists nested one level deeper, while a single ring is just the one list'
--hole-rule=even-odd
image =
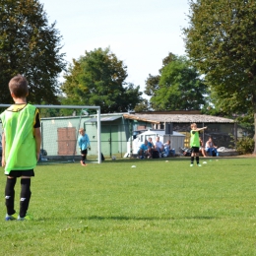
[{"label": "whole soccer goal with white frame and net around the goalkeeper", "polygon": [[[0,104],[1,110],[10,104]],[[40,162],[76,162],[81,154],[78,145],[79,129],[86,128],[91,141],[87,161],[101,162],[100,107],[87,105],[35,105],[40,112]],[[95,117],[94,126],[86,125]],[[90,129],[88,129],[90,127]],[[2,134],[2,124],[0,132]]]}]

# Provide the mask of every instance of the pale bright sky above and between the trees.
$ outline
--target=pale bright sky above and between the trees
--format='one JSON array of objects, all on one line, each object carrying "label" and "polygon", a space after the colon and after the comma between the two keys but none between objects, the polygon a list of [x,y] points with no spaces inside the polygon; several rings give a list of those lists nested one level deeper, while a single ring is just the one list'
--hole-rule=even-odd
[{"label": "pale bright sky above and between the trees", "polygon": [[63,36],[61,52],[69,63],[86,51],[109,47],[127,66],[126,82],[140,86],[141,92],[149,74],[159,75],[169,52],[185,55],[181,29],[188,26],[188,0],[39,2],[49,24],[56,22],[55,29]]}]

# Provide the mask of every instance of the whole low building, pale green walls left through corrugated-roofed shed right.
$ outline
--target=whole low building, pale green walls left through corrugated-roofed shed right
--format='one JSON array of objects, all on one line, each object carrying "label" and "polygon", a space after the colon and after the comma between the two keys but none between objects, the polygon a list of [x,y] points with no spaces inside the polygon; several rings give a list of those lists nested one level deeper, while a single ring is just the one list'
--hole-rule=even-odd
[{"label": "whole low building, pale green walls left through corrugated-roofed shed right", "polygon": [[[165,130],[166,134],[172,131],[182,133],[186,136],[184,147],[188,147],[190,124],[193,122],[196,122],[198,127],[208,126],[201,134],[203,140],[206,141],[212,136],[219,147],[229,148],[230,134],[237,136],[234,120],[202,115],[200,111],[109,113],[100,115],[101,151],[105,157],[124,156],[127,153],[127,142],[134,132],[149,128]],[[42,118],[41,123],[42,149],[48,156],[79,156],[76,140],[80,127],[87,130],[91,140],[92,151],[89,156],[97,156],[96,115],[48,117]]]}]

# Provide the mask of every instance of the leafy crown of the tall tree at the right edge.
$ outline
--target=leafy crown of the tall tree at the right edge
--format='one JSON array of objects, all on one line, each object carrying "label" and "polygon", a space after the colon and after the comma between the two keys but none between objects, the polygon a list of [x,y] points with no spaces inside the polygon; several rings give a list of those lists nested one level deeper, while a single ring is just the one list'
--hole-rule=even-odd
[{"label": "leafy crown of the tall tree at the right edge", "polygon": [[219,107],[236,114],[252,110],[256,126],[256,2],[190,0],[189,6],[184,35],[191,61]]}]

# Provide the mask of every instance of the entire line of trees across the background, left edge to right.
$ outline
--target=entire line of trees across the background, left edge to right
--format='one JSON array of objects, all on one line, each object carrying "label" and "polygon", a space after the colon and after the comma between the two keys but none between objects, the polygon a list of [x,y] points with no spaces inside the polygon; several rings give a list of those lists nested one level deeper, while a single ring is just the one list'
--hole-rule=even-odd
[{"label": "entire line of trees across the background, left edge to right", "polygon": [[[243,118],[256,125],[256,2],[189,0],[186,55],[162,56],[159,74],[127,82],[127,66],[110,48],[85,51],[67,66],[62,36],[37,0],[0,0],[0,100],[8,82],[30,83],[32,103],[100,105],[102,113],[192,110]],[[64,82],[58,82],[61,72]]]}]

